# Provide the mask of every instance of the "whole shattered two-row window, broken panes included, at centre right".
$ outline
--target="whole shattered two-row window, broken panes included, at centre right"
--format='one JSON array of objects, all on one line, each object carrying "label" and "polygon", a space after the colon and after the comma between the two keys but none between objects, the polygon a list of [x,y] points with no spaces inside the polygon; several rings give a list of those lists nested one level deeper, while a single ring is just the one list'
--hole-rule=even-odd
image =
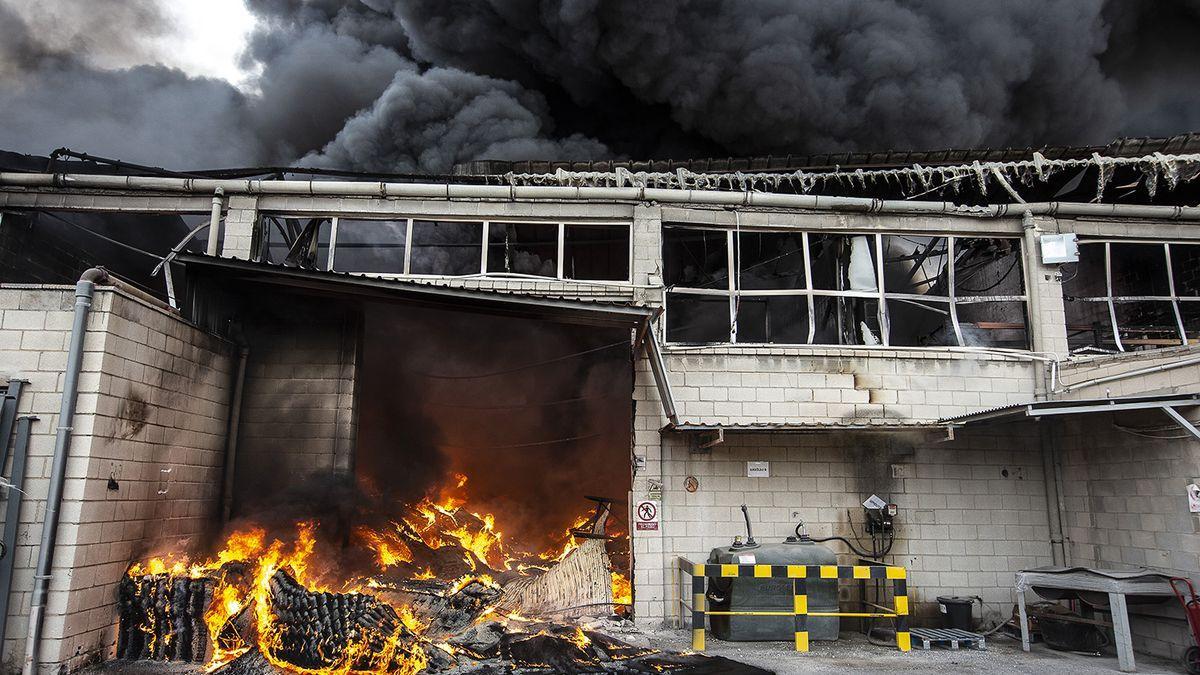
[{"label": "whole shattered two-row window, broken panes included, at centre right", "polygon": [[680,312],[732,299],[720,341],[1028,348],[1018,238],[666,228],[664,258],[668,305],[690,303],[676,335]]}]

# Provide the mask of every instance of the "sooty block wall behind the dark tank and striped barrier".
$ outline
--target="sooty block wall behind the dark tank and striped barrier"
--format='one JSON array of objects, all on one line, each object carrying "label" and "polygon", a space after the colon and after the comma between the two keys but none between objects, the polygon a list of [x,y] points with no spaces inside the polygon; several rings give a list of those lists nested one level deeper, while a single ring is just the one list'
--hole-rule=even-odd
[{"label": "sooty block wall behind the dark tank and striped barrier", "polygon": [[[782,540],[797,519],[814,537],[853,539],[847,509],[865,537],[862,502],[877,494],[900,507],[888,562],[910,569],[916,615],[936,621],[937,596],[964,595],[980,596],[992,617],[1008,616],[1013,572],[1050,563],[1042,455],[1036,437],[1020,434],[960,432],[938,443],[917,432],[726,431],[725,442],[704,454],[692,453],[686,436],[665,435],[667,561],[704,560],[713,546],[744,534],[743,503],[760,542]],[[769,461],[770,477],[748,478],[750,460]],[[689,476],[700,482],[695,492],[684,490]],[[857,557],[839,542],[826,545],[844,565]]]}]

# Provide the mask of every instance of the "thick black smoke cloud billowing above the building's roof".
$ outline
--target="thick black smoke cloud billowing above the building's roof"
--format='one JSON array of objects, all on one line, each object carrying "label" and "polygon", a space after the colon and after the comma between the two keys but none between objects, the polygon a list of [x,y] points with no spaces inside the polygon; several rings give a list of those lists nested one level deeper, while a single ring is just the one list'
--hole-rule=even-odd
[{"label": "thick black smoke cloud billowing above the building's roof", "polygon": [[[1196,0],[247,0],[246,90],[0,0],[0,147],[173,167],[1104,143],[1200,125]],[[106,0],[104,5],[109,2]],[[162,30],[152,1],[95,32]],[[157,22],[157,23],[156,23]],[[67,22],[68,24],[71,22]],[[79,29],[72,35],[90,35]],[[100,58],[103,56],[103,58]],[[132,58],[132,56],[131,56]]]}]

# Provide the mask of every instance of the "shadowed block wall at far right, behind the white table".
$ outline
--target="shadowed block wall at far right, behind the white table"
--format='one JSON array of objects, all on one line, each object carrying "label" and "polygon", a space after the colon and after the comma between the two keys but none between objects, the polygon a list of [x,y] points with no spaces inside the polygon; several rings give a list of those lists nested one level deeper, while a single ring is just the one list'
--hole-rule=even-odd
[{"label": "shadowed block wall at far right, behind the white table", "polygon": [[[1140,425],[1166,425],[1166,417],[1159,417]],[[1200,479],[1200,443],[1134,436],[1112,422],[1112,416],[1093,414],[1061,426],[1070,563],[1150,567],[1200,584],[1200,518],[1189,513],[1186,491]],[[1139,651],[1178,657],[1192,646],[1175,598],[1130,605],[1130,628]]]}]

